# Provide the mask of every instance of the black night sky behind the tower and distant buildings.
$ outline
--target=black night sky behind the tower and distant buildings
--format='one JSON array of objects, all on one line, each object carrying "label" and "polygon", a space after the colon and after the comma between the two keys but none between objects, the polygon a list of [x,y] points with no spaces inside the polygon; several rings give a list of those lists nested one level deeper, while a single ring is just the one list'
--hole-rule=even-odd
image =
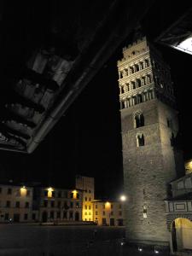
[{"label": "black night sky behind the tower and distant buildings", "polygon": [[[146,20],[145,20],[146,24]],[[149,38],[150,38],[150,30]],[[127,42],[130,38],[127,38]],[[96,178],[96,195],[123,191],[117,61],[122,44],[32,154],[0,151],[0,178],[63,188],[76,174]],[[191,55],[155,44],[171,67],[184,158],[192,157]]]}]

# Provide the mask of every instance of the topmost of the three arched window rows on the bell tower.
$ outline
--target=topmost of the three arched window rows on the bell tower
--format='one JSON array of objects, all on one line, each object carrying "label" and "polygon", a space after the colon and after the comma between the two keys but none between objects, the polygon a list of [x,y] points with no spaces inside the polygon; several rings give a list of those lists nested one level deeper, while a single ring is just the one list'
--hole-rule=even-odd
[{"label": "topmost of the three arched window rows on the bell tower", "polygon": [[124,70],[119,71],[119,79],[124,79],[125,77],[131,75],[132,73],[137,73],[138,71],[143,70],[144,68],[149,67],[149,59],[140,61],[139,63],[126,67]]}]

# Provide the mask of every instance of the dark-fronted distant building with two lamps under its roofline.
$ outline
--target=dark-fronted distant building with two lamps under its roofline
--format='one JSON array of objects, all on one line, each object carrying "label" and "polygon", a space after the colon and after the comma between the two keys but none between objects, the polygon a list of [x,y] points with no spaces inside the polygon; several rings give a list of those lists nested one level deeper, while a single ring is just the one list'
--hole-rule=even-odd
[{"label": "dark-fronted distant building with two lamps under its roofline", "polygon": [[82,192],[76,189],[35,188],[33,221],[82,220]]}]

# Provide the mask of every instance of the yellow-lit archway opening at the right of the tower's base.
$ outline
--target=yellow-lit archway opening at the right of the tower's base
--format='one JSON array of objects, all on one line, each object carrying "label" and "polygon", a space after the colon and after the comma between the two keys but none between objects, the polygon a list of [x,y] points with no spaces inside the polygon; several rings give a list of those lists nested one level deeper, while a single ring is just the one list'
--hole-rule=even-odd
[{"label": "yellow-lit archway opening at the right of the tower's base", "polygon": [[188,218],[176,218],[172,222],[172,250],[192,250],[192,221]]}]

